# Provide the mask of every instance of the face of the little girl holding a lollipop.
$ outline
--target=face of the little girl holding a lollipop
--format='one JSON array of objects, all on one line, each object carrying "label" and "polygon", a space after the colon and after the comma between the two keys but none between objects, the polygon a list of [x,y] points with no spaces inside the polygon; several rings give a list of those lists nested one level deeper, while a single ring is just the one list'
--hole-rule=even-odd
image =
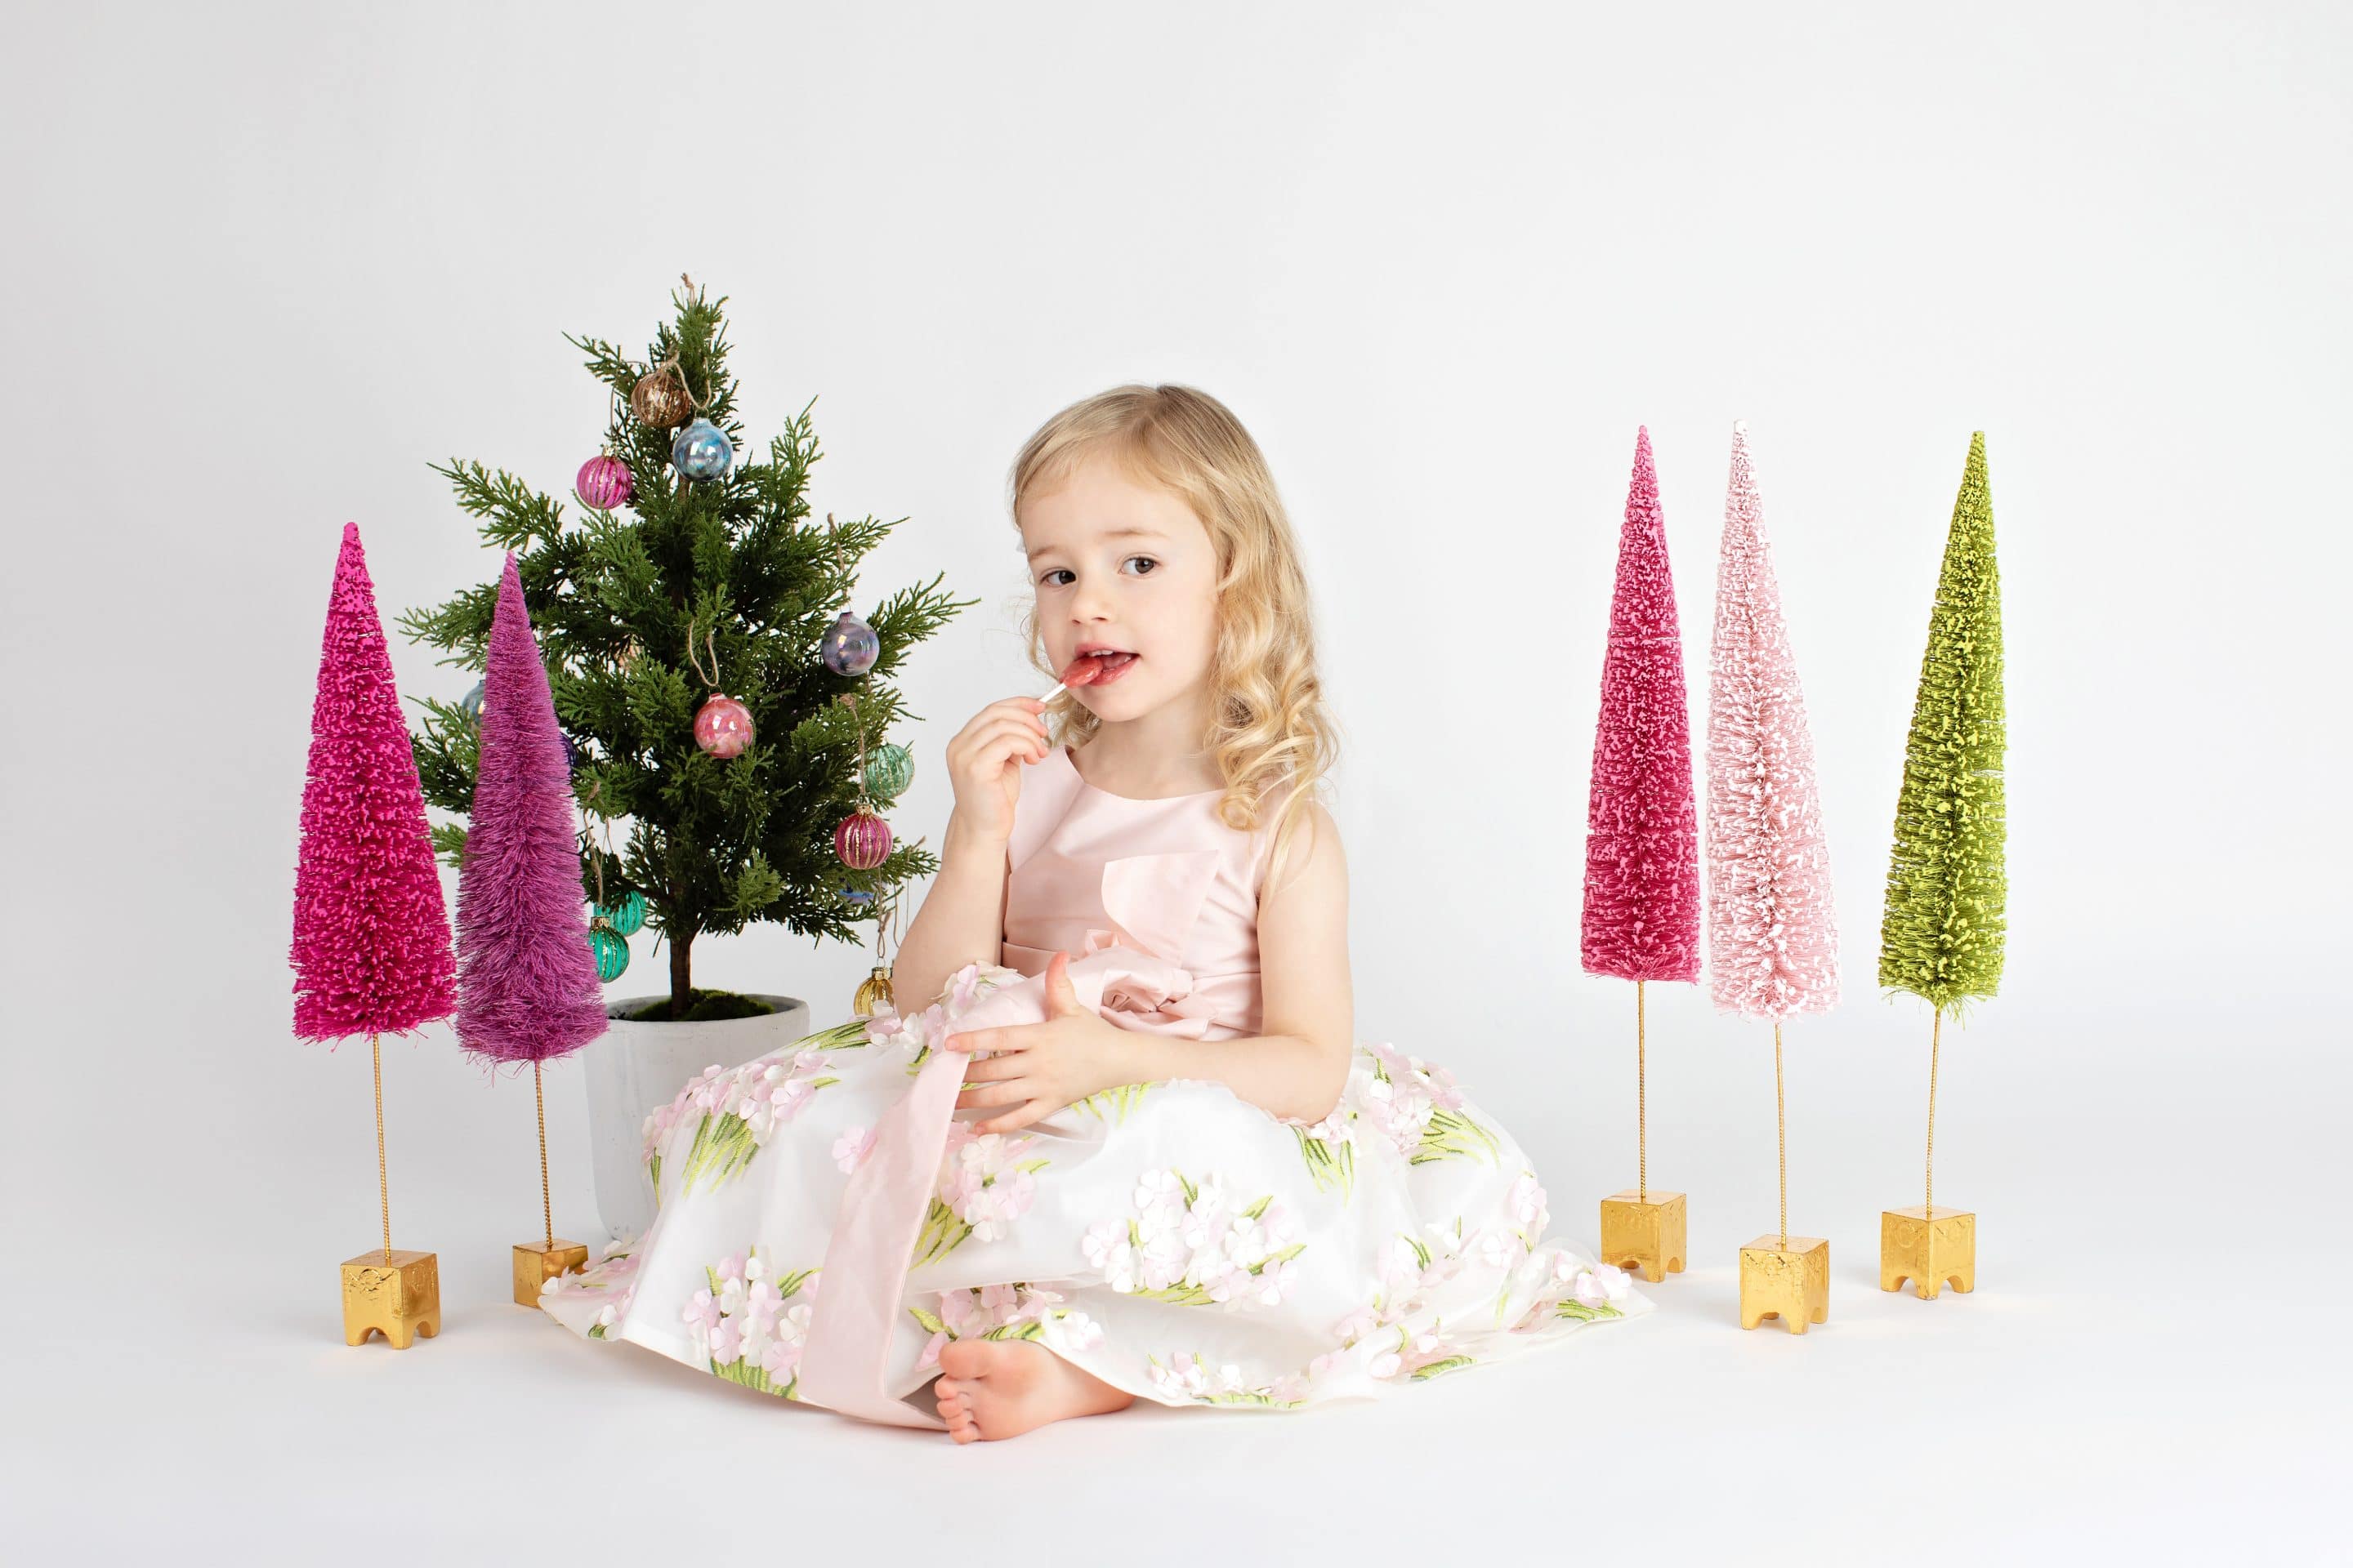
[{"label": "face of the little girl holding a lollipop", "polygon": [[1217,545],[1193,508],[1111,456],[1080,458],[1016,512],[1038,590],[1038,635],[1061,672],[1115,649],[1101,684],[1073,693],[1104,722],[1136,719],[1207,689],[1217,651]]}]

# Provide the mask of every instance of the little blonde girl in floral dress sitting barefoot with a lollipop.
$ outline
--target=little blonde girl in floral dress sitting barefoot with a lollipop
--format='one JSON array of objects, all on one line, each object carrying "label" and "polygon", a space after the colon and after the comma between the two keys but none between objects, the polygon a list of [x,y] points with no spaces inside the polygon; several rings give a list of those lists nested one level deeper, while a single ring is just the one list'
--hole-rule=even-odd
[{"label": "little blonde girl in floral dress sitting barefoot with a lollipop", "polygon": [[1118,388],[1031,437],[1012,510],[1031,654],[1078,679],[948,743],[918,1006],[689,1081],[647,1119],[654,1225],[541,1307],[960,1443],[1384,1394],[1649,1312],[1546,1239],[1449,1072],[1355,1044],[1332,726],[1249,433]]}]

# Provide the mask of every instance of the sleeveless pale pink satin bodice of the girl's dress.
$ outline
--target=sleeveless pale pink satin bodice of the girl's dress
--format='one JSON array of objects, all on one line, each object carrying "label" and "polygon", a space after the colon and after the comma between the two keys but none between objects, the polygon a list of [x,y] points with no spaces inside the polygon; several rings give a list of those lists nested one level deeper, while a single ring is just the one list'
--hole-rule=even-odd
[{"label": "sleeveless pale pink satin bodice of the girl's dress", "polygon": [[1026,769],[1007,842],[1005,966],[1035,976],[1056,950],[1075,961],[1127,947],[1160,964],[1106,983],[1113,1023],[1186,1039],[1259,1034],[1259,884],[1273,832],[1228,827],[1221,795],[1108,795],[1066,748]]}]

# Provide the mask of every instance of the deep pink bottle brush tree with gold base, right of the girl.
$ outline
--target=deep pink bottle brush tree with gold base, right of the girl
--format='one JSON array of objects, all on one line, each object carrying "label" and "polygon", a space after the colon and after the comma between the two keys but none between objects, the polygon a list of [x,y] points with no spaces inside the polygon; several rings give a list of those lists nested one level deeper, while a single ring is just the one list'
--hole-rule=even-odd
[{"label": "deep pink bottle brush tree with gold base, right of the girl", "polygon": [[1659,1281],[1682,1272],[1685,1208],[1680,1192],[1649,1190],[1642,987],[1649,980],[1699,980],[1699,809],[1692,799],[1675,574],[1666,557],[1666,512],[1647,428],[1635,433],[1593,731],[1584,964],[1591,973],[1635,983],[1638,1185],[1602,1199],[1602,1262],[1633,1262],[1645,1279]]}]

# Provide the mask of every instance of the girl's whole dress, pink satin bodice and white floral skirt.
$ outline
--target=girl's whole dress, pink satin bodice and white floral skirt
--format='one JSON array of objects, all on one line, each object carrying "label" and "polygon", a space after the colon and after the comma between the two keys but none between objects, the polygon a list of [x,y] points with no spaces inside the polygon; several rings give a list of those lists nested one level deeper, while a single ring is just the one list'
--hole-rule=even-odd
[{"label": "girl's whole dress, pink satin bodice and white floral skirt", "polygon": [[1511,1133],[1421,1056],[1360,1044],[1322,1121],[1212,1079],[1129,1084],[1016,1133],[955,1110],[953,1032],[1080,1001],[1179,1039],[1261,1032],[1271,835],[1217,790],[1129,799],[1068,752],[1024,773],[1005,964],[929,1006],[708,1070],[652,1112],[656,1218],[539,1305],[765,1394],[939,1427],[948,1340],[1033,1340],[1139,1399],[1297,1410],[1377,1396],[1652,1302],[1548,1237]]}]

